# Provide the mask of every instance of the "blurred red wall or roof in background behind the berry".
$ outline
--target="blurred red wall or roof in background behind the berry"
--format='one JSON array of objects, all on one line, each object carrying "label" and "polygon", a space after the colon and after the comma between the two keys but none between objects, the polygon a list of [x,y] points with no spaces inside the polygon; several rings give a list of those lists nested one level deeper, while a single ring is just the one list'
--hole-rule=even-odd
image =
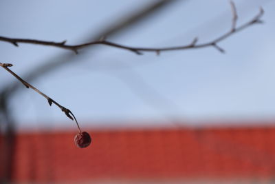
[{"label": "blurred red wall or roof in background behind the berry", "polygon": [[275,176],[275,128],[87,131],[17,134],[13,181],[259,178]]}]

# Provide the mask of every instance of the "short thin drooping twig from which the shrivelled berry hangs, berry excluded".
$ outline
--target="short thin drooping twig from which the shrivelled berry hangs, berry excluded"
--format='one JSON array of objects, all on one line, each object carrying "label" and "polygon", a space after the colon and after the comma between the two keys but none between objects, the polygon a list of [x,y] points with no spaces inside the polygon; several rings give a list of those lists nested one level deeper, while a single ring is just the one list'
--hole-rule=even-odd
[{"label": "short thin drooping twig from which the shrivelled berry hangs, berry excluded", "polygon": [[12,67],[12,64],[10,63],[0,63],[0,66],[2,68],[4,68],[5,70],[7,70],[8,72],[10,72],[10,74],[12,74],[13,76],[15,76],[19,81],[21,81],[21,83],[23,83],[23,85],[25,85],[26,88],[32,88],[32,90],[38,92],[39,94],[41,94],[42,96],[45,97],[45,99],[47,99],[47,102],[49,103],[50,106],[52,106],[52,103],[54,103],[56,106],[58,106],[58,108],[60,108],[69,119],[72,119],[73,121],[76,121],[76,125],[78,126],[78,130],[79,132],[81,132],[80,127],[78,125],[78,121],[76,120],[76,117],[74,116],[74,114],[72,113],[71,110],[64,108],[62,105],[60,105],[59,103],[57,103],[56,101],[54,101],[53,99],[51,99],[49,96],[47,96],[46,94],[44,94],[43,92],[41,92],[40,90],[38,90],[37,88],[35,88],[33,85],[30,85],[30,83],[24,81],[20,76],[18,76],[16,73],[12,72],[12,70],[9,69],[9,67]]}]

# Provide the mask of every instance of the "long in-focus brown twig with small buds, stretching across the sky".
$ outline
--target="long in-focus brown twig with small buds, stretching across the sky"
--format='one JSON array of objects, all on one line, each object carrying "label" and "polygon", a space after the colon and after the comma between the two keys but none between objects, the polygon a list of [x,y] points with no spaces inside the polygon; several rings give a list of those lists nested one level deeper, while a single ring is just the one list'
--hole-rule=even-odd
[{"label": "long in-focus brown twig with small buds, stretching across the sky", "polygon": [[214,39],[212,41],[206,42],[206,43],[200,43],[197,44],[197,38],[195,38],[192,43],[189,43],[188,45],[182,45],[182,46],[175,46],[175,47],[167,47],[167,48],[137,48],[137,47],[131,47],[126,45],[121,45],[118,43],[113,43],[111,41],[106,41],[105,39],[99,39],[98,41],[91,41],[88,43],[83,43],[79,45],[67,45],[66,41],[61,42],[54,42],[54,41],[41,41],[36,39],[14,39],[14,38],[8,38],[8,37],[0,37],[0,41],[5,41],[12,43],[15,46],[19,46],[19,43],[30,43],[30,44],[37,44],[37,45],[48,45],[58,48],[63,48],[66,50],[72,50],[76,54],[78,53],[78,50],[81,48],[85,48],[89,45],[109,45],[113,48],[120,48],[123,50],[129,50],[131,52],[135,52],[135,54],[142,54],[142,52],[155,52],[157,55],[160,54],[160,52],[163,51],[169,51],[169,50],[186,50],[186,49],[194,49],[194,48],[206,48],[209,46],[212,46],[219,50],[220,52],[225,52],[217,43],[220,41],[223,41],[223,39],[226,39],[230,37],[232,34],[239,32],[240,30],[243,30],[245,28],[248,28],[250,25],[253,25],[255,23],[262,23],[263,21],[260,20],[260,18],[263,15],[263,9],[260,8],[259,14],[256,15],[252,20],[248,21],[247,23],[244,23],[243,25],[240,25],[239,27],[236,27],[236,21],[238,19],[237,13],[236,13],[236,6],[232,1],[230,1],[230,6],[232,10],[232,27],[229,32],[226,32],[225,34],[221,35],[217,39]]}]

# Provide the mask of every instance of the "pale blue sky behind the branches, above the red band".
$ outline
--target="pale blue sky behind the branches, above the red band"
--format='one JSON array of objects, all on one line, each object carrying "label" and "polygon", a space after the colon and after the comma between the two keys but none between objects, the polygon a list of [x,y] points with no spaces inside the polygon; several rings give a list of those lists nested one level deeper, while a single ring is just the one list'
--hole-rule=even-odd
[{"label": "pale blue sky behind the branches, above the red band", "polygon": [[[150,1],[155,2],[155,1]],[[72,63],[32,85],[74,112],[82,126],[170,125],[179,120],[201,125],[209,119],[275,119],[275,1],[235,1],[237,25],[265,10],[264,24],[252,25],[214,48],[144,53],[101,45],[73,55]],[[147,0],[1,1],[0,35],[83,43],[109,25],[148,6]],[[186,45],[194,37],[210,41],[230,29],[228,1],[178,1],[154,16],[107,38],[123,45]],[[1,62],[25,76],[70,51],[0,42]],[[60,59],[60,58],[59,58]],[[0,90],[16,81],[0,71]],[[74,123],[42,96],[21,88],[10,101],[19,128],[68,127]],[[189,125],[188,124],[188,125]],[[148,125],[148,124],[146,124]]]}]

